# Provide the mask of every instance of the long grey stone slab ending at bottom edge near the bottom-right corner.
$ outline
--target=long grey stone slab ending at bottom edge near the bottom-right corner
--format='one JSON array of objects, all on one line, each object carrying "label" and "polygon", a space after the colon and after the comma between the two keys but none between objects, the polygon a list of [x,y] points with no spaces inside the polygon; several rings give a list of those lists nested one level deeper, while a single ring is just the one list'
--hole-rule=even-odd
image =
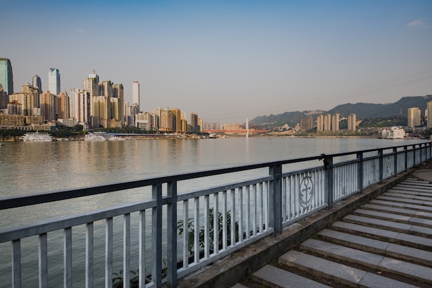
[{"label": "long grey stone slab ending at bottom edge near the bottom-right corner", "polygon": [[302,269],[303,271],[322,278],[336,279],[338,282],[352,287],[415,287],[406,282],[400,282],[295,250],[290,250],[286,254],[280,256],[279,263],[287,265],[288,267]]}]

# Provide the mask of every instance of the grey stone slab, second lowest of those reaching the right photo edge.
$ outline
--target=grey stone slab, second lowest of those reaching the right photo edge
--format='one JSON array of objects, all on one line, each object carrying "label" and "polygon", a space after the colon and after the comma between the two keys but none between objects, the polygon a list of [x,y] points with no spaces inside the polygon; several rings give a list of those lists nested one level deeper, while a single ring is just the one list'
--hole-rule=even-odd
[{"label": "grey stone slab, second lowest of those reaching the right photo edge", "polygon": [[[404,260],[424,266],[432,267],[432,252],[414,247],[375,240],[364,236],[347,234],[335,230],[324,229],[318,233],[320,238],[338,245],[344,245],[353,249],[360,249],[379,255],[391,256],[398,260]],[[432,242],[432,241],[431,241]]]}]

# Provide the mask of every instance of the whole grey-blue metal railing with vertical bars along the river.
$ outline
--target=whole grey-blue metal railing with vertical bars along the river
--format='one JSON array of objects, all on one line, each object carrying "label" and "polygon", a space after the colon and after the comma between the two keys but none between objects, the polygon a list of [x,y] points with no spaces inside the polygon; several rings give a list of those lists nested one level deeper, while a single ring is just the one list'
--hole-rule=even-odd
[{"label": "whole grey-blue metal railing with vertical bars along the river", "polygon": [[[265,236],[282,233],[283,227],[294,221],[419,165],[431,158],[431,152],[431,143],[422,143],[3,198],[1,210],[129,189],[148,187],[151,191],[151,197],[139,203],[1,230],[0,243],[11,243],[11,257],[6,260],[10,261],[10,283],[4,281],[6,287],[23,286],[21,257],[29,253],[23,251],[28,249],[23,241],[36,237],[38,253],[32,255],[37,258],[34,273],[39,287],[48,287],[48,277],[52,278],[48,247],[62,251],[63,287],[72,287],[72,280],[77,278],[92,287],[100,281],[95,278],[95,263],[102,263],[105,287],[112,287],[117,280],[123,287],[130,287],[131,281],[137,281],[139,287],[161,287],[164,282],[176,287],[177,279],[192,271]],[[308,167],[282,171],[300,165]],[[259,169],[268,169],[268,174],[186,193],[177,189],[182,181],[202,183],[208,176]],[[115,232],[116,221],[121,222],[122,233]],[[74,239],[84,238],[79,254],[72,245],[74,231],[79,231]],[[56,232],[61,236],[51,236]],[[120,259],[115,258],[118,250]],[[76,258],[83,266],[79,275],[72,261]],[[117,261],[125,271],[120,277],[113,271]],[[137,267],[131,267],[131,263]],[[134,269],[137,276],[130,276],[128,271]]]}]

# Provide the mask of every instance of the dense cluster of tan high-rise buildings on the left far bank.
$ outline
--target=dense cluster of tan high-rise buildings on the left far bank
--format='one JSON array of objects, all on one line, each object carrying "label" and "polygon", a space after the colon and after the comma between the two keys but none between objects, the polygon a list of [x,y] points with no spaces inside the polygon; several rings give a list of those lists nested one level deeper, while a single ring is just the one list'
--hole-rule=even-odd
[{"label": "dense cluster of tan high-rise buildings on the left far bank", "polygon": [[[41,78],[13,90],[12,65],[0,58],[0,126],[28,130],[27,125],[46,125],[50,130],[59,122],[66,126],[82,125],[84,130],[98,127],[134,126],[141,130],[164,133],[199,133],[202,119],[194,112],[188,116],[174,108],[141,112],[139,83],[132,83],[132,104],[124,101],[124,86],[112,81],[99,81],[95,70],[83,80],[82,89],[61,92],[60,72],[48,71],[48,90],[42,90]],[[24,128],[26,127],[26,128]]]}]

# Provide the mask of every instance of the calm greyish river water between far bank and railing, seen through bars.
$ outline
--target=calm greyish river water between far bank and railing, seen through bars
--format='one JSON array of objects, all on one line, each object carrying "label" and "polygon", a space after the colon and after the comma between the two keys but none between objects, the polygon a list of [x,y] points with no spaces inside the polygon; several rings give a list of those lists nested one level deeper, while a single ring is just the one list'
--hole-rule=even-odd
[{"label": "calm greyish river water between far bank and railing, seen through bars", "polygon": [[[231,137],[193,140],[148,139],[102,142],[6,143],[0,147],[0,198],[317,156],[322,153],[335,154],[424,142],[418,140],[390,141],[375,138]],[[322,165],[322,163],[316,163],[316,165]],[[256,176],[254,173],[266,174],[267,171],[252,172],[252,174],[246,172],[241,177],[251,178]],[[220,184],[218,183],[220,181],[233,182],[238,180],[238,177],[233,179],[232,176],[228,175],[225,178],[213,178],[206,185],[217,185]],[[179,187],[180,192],[187,192],[192,189],[197,189],[196,183],[190,182]],[[8,209],[0,211],[0,229],[28,225],[124,203],[133,203],[149,196],[149,193],[132,190],[128,193],[113,193],[109,196],[94,196],[74,200],[72,204],[68,201],[61,201],[61,203],[36,205],[35,207]],[[103,225],[99,226],[95,226],[95,234],[99,232],[103,234]],[[84,228],[75,229],[74,235],[77,234],[84,234]],[[121,237],[120,230],[119,238]],[[61,238],[61,232],[48,234],[48,249],[50,250],[50,243],[56,241],[61,243]],[[81,239],[76,240],[74,244],[76,248],[73,261],[74,265],[78,267],[73,272],[74,287],[82,287],[83,282],[80,275],[84,275],[84,267],[82,267],[84,263],[75,254],[85,253],[84,243]],[[22,240],[21,245],[23,247],[21,260],[23,263],[23,287],[37,287],[37,246],[35,246],[35,239]],[[121,247],[121,241],[119,241],[119,245]],[[97,251],[98,246],[100,246],[101,251],[104,251],[103,241],[99,243],[98,240],[95,240],[95,251]],[[49,275],[50,286],[52,285],[52,287],[62,285],[62,253],[61,249],[54,247],[48,255],[49,267],[52,271]],[[132,251],[132,253],[135,252]],[[121,259],[121,254],[117,257]],[[10,243],[0,244],[0,287],[10,287],[10,263]],[[101,262],[95,260],[95,267],[95,287],[103,287],[101,281],[104,276],[103,259]],[[121,263],[115,267],[115,271],[120,269]]]}]

